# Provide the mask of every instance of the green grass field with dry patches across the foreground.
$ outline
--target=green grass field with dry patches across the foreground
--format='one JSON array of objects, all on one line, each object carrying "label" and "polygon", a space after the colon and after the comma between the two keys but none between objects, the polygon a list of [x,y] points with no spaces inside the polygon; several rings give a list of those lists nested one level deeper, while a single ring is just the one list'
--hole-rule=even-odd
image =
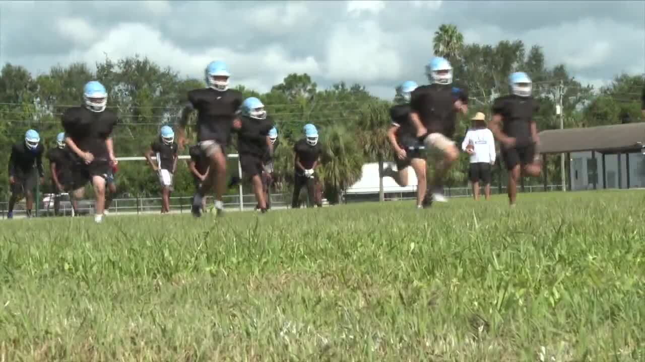
[{"label": "green grass field with dry patches across the foreground", "polygon": [[643,361],[644,199],[3,222],[0,361]]}]

